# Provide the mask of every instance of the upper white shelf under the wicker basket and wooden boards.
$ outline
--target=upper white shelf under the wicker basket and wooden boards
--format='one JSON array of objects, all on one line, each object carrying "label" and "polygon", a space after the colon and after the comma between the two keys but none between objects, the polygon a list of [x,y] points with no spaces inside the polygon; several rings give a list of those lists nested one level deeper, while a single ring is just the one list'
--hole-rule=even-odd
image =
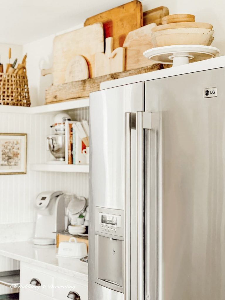
[{"label": "upper white shelf under the wicker basket and wooden boards", "polygon": [[0,105],[0,113],[23,113],[23,114],[54,113],[58,111],[73,110],[82,107],[89,107],[89,98],[52,103],[52,104],[46,104],[46,105],[40,105],[34,107]]}]

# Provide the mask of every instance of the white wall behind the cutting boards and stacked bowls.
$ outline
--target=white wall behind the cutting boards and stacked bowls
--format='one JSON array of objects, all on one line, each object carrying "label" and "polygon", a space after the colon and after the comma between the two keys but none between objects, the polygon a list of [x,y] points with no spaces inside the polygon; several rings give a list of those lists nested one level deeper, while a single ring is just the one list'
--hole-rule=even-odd
[{"label": "white wall behind the cutting boards and stacked bowls", "polygon": [[[212,46],[218,47],[221,50],[221,55],[225,55],[225,1],[143,0],[142,4],[143,11],[158,6],[166,6],[169,8],[171,14],[191,13],[196,16],[197,22],[211,23],[215,30],[215,40]],[[67,31],[78,29],[80,27],[82,27],[82,24],[70,28]],[[61,33],[64,32],[56,32],[55,35]],[[42,77],[40,70],[41,68],[52,67],[52,44],[55,35],[47,36],[46,38],[23,46],[23,52],[28,53],[27,72],[32,105],[41,105],[45,103],[45,89],[52,84],[52,75]]]}]

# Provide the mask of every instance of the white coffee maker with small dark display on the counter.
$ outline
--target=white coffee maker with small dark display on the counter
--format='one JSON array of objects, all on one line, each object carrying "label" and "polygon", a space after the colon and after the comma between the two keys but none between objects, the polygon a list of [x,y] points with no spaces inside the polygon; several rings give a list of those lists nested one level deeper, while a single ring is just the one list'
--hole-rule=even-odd
[{"label": "white coffee maker with small dark display on the counter", "polygon": [[55,232],[65,230],[64,194],[62,191],[40,193],[35,200],[35,210],[37,214],[33,243],[55,244]]}]

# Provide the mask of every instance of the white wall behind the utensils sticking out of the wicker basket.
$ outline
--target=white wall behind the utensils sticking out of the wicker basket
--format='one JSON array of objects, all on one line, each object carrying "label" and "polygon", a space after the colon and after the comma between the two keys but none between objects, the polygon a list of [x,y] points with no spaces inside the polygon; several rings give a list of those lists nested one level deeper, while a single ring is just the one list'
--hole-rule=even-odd
[{"label": "white wall behind the utensils sticking out of the wicker basket", "polygon": [[4,70],[6,68],[6,64],[9,63],[9,48],[11,48],[11,60],[12,64],[15,58],[18,59],[17,62],[22,61],[23,47],[20,45],[12,45],[12,44],[1,44],[0,43],[0,62],[4,66]]}]

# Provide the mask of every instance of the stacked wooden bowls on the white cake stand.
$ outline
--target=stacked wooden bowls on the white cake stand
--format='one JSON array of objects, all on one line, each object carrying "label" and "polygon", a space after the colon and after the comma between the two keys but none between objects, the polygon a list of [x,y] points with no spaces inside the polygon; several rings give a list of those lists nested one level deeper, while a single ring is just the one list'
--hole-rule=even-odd
[{"label": "stacked wooden bowls on the white cake stand", "polygon": [[176,14],[163,17],[163,25],[152,29],[154,47],[172,45],[210,46],[214,37],[212,25],[195,22],[195,16]]}]

